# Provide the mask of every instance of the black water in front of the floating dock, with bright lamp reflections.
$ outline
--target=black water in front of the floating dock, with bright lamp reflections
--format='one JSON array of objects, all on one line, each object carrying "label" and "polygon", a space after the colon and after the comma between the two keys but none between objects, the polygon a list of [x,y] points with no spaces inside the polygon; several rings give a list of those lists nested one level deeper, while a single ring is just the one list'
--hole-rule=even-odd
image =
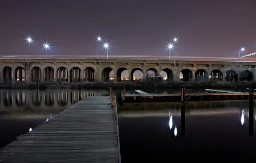
[{"label": "black water in front of the floating dock, with bright lamp reflections", "polygon": [[[197,160],[244,159],[248,154],[252,159],[256,151],[252,110],[248,101],[188,102],[185,112],[180,103],[119,104],[122,163],[182,153]],[[239,154],[230,157],[227,151]]]}]

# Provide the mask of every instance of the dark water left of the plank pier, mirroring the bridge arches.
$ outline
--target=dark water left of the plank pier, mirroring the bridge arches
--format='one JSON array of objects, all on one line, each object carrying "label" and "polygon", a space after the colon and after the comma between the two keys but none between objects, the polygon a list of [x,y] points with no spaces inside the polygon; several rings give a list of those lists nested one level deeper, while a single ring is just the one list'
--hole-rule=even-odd
[{"label": "dark water left of the plank pier, mirroring the bridge arches", "polygon": [[102,90],[0,90],[0,148],[30,132],[87,96],[109,95]]}]

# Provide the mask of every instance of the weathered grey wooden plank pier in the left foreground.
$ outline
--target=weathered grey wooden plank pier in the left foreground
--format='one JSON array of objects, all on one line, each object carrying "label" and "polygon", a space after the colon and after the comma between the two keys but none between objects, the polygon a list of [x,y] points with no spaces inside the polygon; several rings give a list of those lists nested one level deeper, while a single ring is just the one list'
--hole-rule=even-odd
[{"label": "weathered grey wooden plank pier in the left foreground", "polygon": [[121,163],[116,108],[109,102],[85,97],[1,148],[0,163]]}]

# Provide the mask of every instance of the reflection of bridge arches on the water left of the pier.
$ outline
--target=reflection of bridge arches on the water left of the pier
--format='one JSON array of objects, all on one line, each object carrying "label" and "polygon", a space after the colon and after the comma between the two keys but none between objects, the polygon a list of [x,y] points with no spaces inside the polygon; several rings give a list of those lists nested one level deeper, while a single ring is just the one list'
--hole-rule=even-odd
[{"label": "reflection of bridge arches on the water left of the pier", "polygon": [[[67,109],[87,96],[109,96],[108,91],[84,90],[0,90],[0,112]],[[11,109],[9,109],[11,108]]]}]

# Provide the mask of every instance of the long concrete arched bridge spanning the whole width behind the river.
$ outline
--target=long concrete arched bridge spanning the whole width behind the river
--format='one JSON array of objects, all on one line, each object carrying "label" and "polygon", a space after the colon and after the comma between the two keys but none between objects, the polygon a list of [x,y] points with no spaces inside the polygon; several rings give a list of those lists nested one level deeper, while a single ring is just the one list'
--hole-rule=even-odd
[{"label": "long concrete arched bridge spanning the whole width behind the river", "polygon": [[128,80],[132,81],[136,70],[144,78],[148,71],[155,76],[165,72],[168,81],[253,81],[255,64],[203,60],[0,59],[0,82],[120,82],[123,71],[128,71]]}]

